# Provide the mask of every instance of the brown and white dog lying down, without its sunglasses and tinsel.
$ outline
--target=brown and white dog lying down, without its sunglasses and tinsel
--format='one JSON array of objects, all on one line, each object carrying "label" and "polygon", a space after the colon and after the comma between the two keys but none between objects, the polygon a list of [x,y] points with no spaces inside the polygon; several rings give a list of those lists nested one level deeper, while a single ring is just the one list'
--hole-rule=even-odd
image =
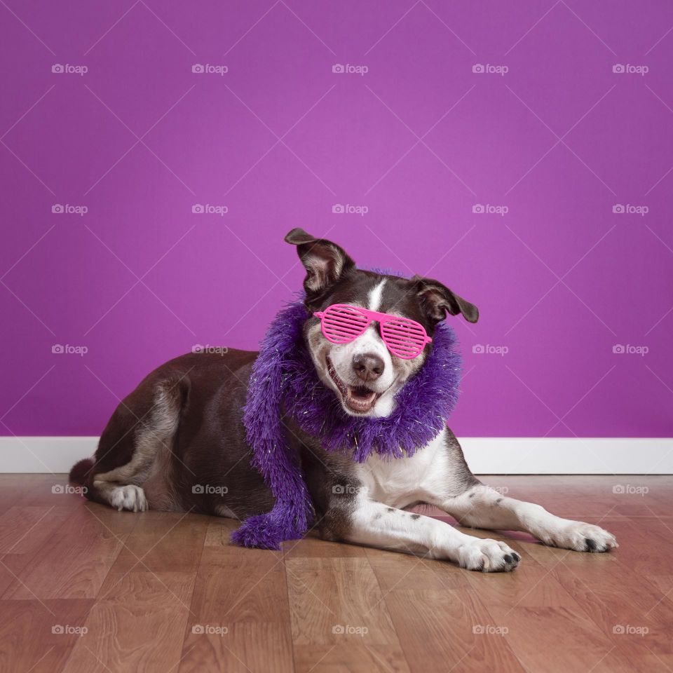
[{"label": "brown and white dog lying down, without its sunglasses and tinsel", "polygon": [[[306,269],[303,334],[320,381],[346,414],[387,416],[395,395],[419,372],[431,348],[414,358],[392,355],[374,324],[346,344],[321,332],[314,311],[351,304],[419,322],[432,337],[438,322],[461,314],[477,322],[477,307],[431,278],[400,278],[365,271],[336,243],[292,229]],[[223,349],[224,350],[224,349]],[[267,512],[274,498],[251,465],[243,407],[254,351],[188,353],[151,372],[118,405],[93,458],[80,461],[70,480],[86,496],[118,510],[201,512],[245,519]],[[506,543],[477,538],[447,522],[409,512],[426,503],[461,526],[524,531],[578,552],[617,545],[599,526],[562,519],[541,505],[505,497],[470,472],[449,428],[413,456],[356,463],[329,453],[320,437],[285,420],[290,447],[301,465],[323,540],[344,541],[454,562],[462,568],[512,571],[521,558]],[[207,486],[206,486],[207,484]]]}]

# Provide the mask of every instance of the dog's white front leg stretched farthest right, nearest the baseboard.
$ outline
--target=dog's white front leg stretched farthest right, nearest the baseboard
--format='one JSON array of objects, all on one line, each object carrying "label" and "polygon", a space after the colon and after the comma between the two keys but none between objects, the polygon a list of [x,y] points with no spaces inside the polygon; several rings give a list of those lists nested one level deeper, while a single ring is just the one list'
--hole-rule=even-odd
[{"label": "dog's white front leg stretched farthest right, nearest the baseboard", "polygon": [[615,536],[599,526],[562,519],[541,505],[505,497],[484,484],[475,484],[459,496],[438,498],[433,504],[463,526],[524,531],[552,547],[606,552],[618,546]]}]

